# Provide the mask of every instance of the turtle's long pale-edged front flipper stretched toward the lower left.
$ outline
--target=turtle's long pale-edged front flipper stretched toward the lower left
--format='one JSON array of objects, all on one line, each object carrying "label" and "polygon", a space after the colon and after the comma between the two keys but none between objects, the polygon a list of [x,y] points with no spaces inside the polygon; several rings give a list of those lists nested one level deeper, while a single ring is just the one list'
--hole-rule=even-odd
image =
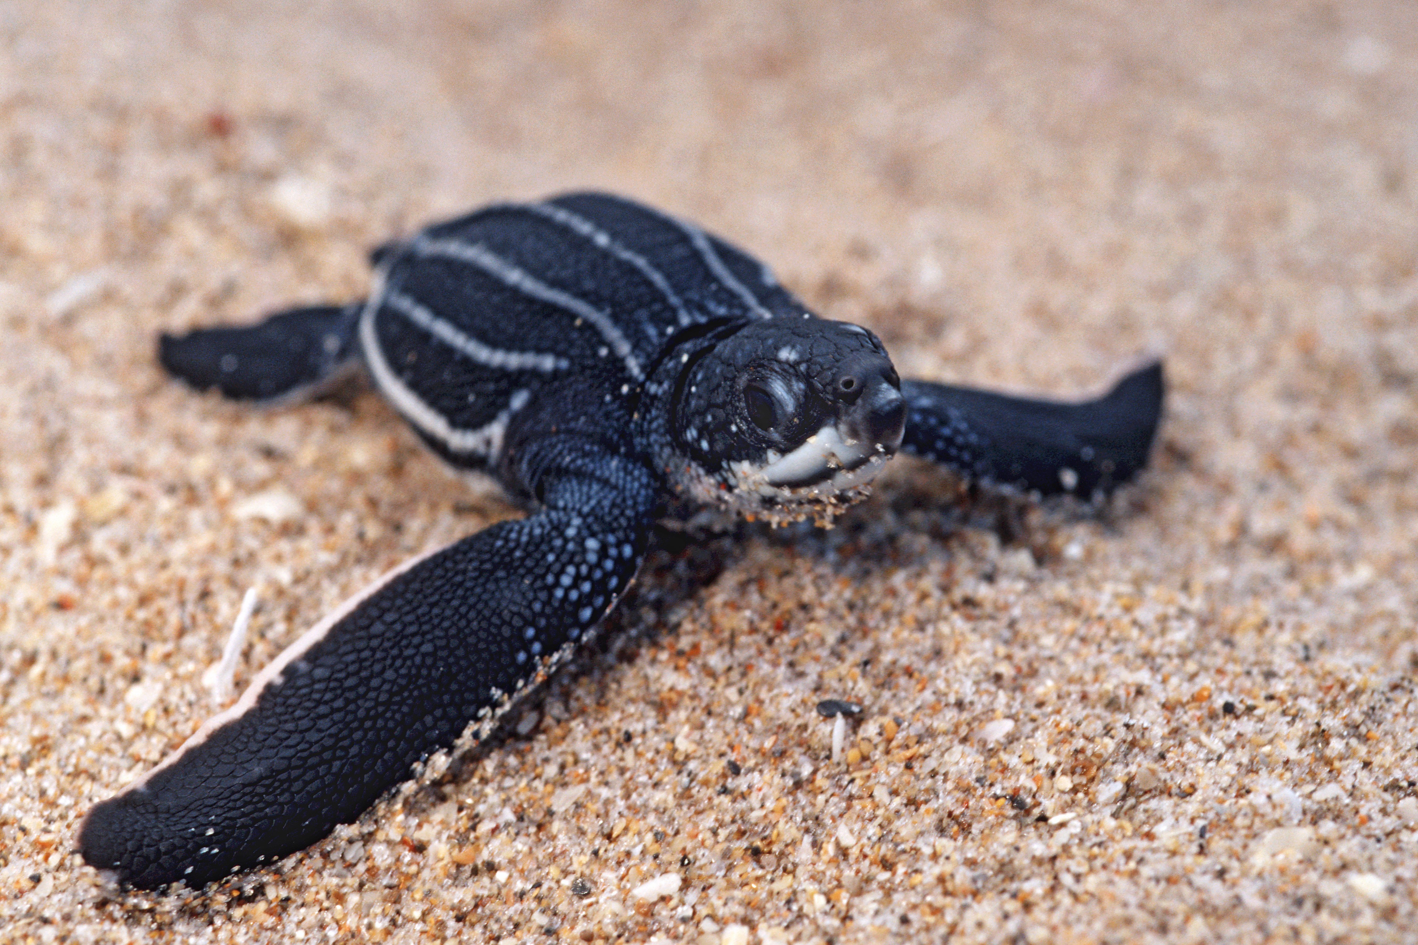
[{"label": "turtle's long pale-edged front flipper stretched toward the lower left", "polygon": [[635,574],[655,487],[581,443],[543,451],[543,509],[393,574],[261,672],[233,708],[79,832],[129,885],[199,887],[354,820],[591,630]]}]

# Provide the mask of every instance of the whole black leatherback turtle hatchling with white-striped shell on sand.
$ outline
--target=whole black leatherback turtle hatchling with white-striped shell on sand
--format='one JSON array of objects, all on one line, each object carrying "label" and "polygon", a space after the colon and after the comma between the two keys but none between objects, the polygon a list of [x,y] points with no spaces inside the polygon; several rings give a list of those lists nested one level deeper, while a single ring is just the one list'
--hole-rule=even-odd
[{"label": "whole black leatherback turtle hatchling with white-striped shell on sand", "polygon": [[95,806],[79,849],[121,883],[201,885],[282,857],[486,734],[605,618],[666,503],[830,519],[899,448],[1093,497],[1146,463],[1161,408],[1157,363],[1081,404],[902,383],[866,329],[604,194],[492,205],[373,265],[366,300],[163,336],[162,364],[257,401],[363,366],[434,451],[533,511],[354,595]]}]

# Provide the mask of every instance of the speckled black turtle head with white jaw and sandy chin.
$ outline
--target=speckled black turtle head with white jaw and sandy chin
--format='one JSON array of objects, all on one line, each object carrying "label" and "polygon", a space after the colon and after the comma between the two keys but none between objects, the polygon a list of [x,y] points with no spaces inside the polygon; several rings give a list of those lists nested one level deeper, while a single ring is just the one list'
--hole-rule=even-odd
[{"label": "speckled black turtle head with white jaw and sandy chin", "polygon": [[855,324],[754,322],[702,350],[681,384],[676,439],[691,492],[710,504],[831,520],[900,446],[900,378]]}]

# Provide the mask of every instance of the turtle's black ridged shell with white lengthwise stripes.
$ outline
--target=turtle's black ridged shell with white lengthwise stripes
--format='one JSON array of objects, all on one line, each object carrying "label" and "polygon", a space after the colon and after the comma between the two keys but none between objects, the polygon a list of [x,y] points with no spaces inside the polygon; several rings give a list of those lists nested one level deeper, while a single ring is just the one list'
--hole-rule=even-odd
[{"label": "turtle's black ridged shell with white lengthwise stripes", "polygon": [[376,252],[359,337],[394,407],[450,460],[498,466],[509,425],[569,374],[634,412],[706,324],[807,315],[760,262],[604,194],[505,204]]}]

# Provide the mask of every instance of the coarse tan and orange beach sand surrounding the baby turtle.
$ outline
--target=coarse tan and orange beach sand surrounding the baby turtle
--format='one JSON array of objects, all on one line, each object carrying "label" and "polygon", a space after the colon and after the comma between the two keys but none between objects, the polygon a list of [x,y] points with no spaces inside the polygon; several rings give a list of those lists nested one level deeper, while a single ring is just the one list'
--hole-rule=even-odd
[{"label": "coarse tan and orange beach sand surrounding the baby turtle", "polygon": [[[1411,941],[1414,4],[0,0],[0,939]],[[377,397],[196,397],[155,333],[571,187],[908,375],[1164,354],[1154,469],[1001,514],[903,462],[830,533],[661,554],[495,751],[274,870],[105,891],[78,819],[213,711],[247,588],[238,684],[516,514]]]}]

